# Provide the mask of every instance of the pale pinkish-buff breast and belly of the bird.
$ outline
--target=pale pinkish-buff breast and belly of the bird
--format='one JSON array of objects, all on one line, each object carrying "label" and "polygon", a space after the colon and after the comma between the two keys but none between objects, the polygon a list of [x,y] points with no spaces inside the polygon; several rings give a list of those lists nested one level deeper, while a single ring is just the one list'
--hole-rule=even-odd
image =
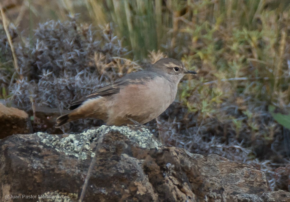
[{"label": "pale pinkish-buff breast and belly of the bird", "polygon": [[[108,125],[122,125],[133,120],[143,124],[164,112],[174,101],[177,85],[164,77],[144,84],[129,84],[108,100]],[[122,101],[121,101],[122,100]]]}]

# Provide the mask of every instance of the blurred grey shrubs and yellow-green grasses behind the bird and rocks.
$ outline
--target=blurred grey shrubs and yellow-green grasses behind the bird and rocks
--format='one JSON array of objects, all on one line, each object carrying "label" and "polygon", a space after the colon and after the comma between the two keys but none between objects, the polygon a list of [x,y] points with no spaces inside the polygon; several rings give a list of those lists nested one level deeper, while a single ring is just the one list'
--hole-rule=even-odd
[{"label": "blurred grey shrubs and yellow-green grasses behind the bird and rocks", "polygon": [[[147,125],[166,145],[249,163],[273,190],[290,190],[289,1],[1,4],[1,98],[62,112],[138,64],[181,59],[198,75],[184,79],[157,125]],[[79,121],[66,131],[98,124]]]}]

